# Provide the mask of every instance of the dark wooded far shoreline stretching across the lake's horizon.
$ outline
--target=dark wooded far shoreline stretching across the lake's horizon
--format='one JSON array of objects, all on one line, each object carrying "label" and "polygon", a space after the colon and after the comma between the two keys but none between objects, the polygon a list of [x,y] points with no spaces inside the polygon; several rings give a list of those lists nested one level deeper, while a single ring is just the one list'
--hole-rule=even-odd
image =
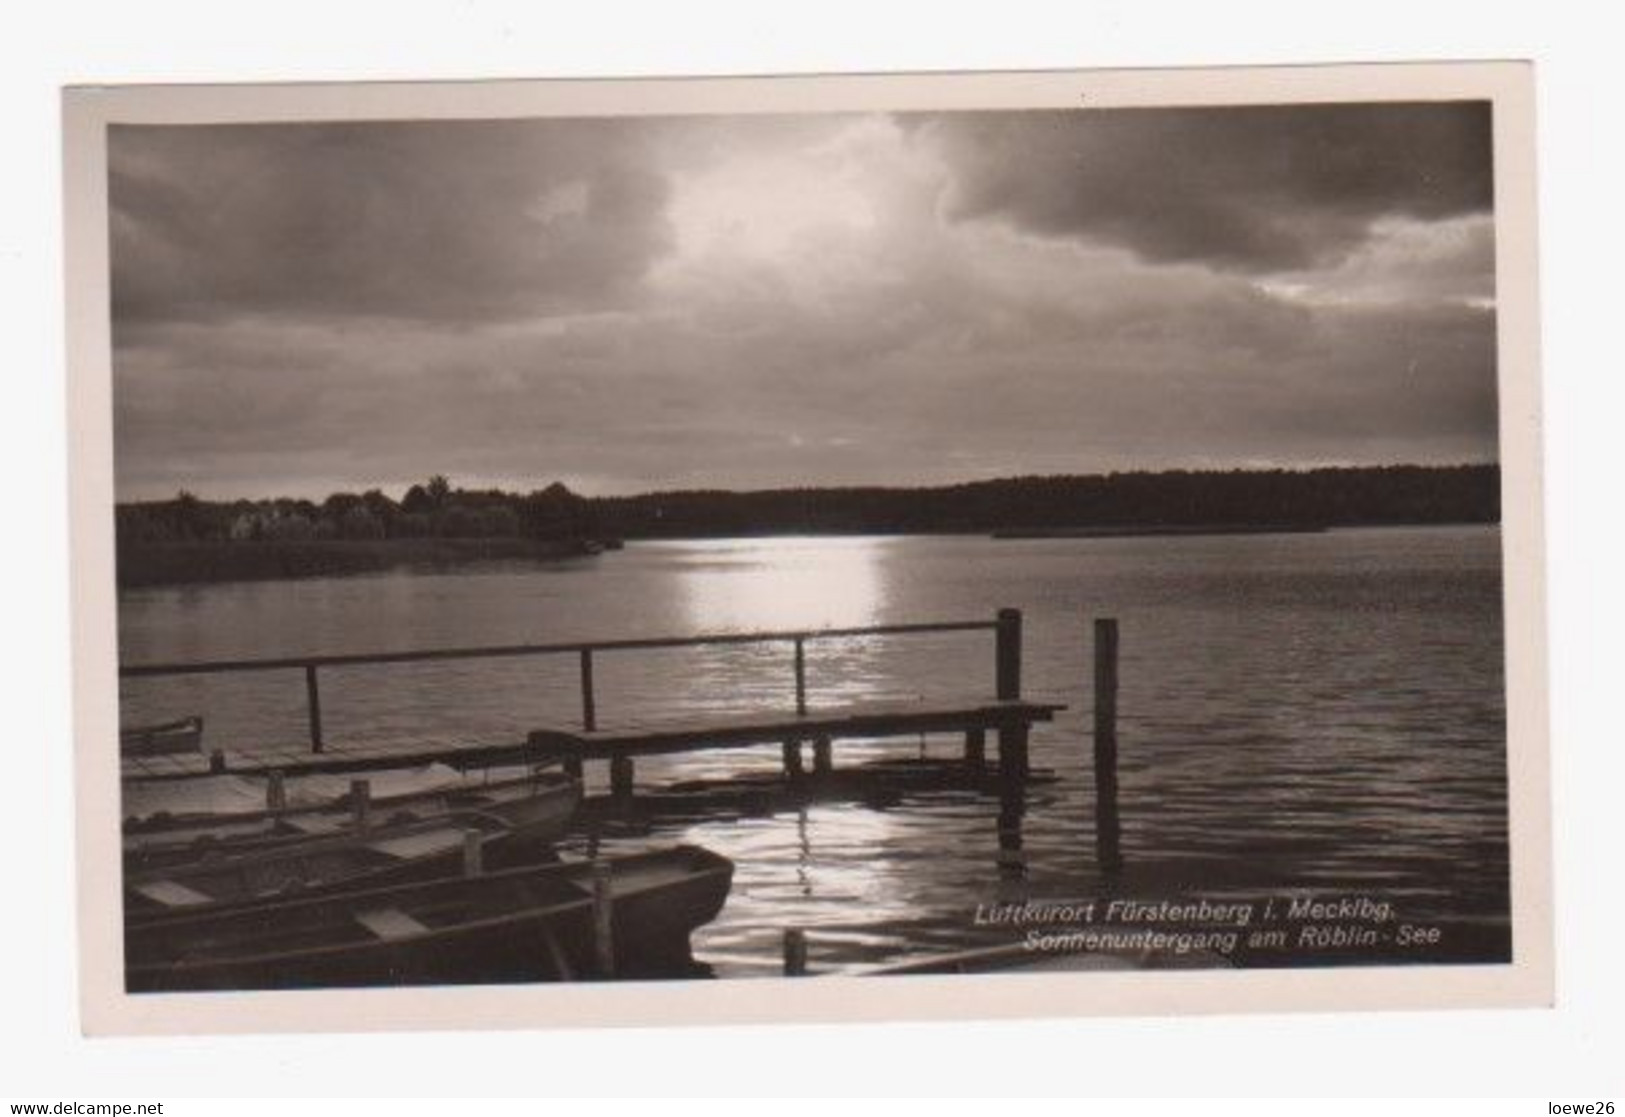
[{"label": "dark wooded far shoreline stretching across the lake's horizon", "polygon": [[795,488],[582,498],[453,489],[400,501],[380,489],[312,501],[120,504],[120,543],[203,540],[658,538],[774,533],[1008,532],[1064,527],[1492,524],[1500,468],[1370,467],[1019,476],[939,488]]}]

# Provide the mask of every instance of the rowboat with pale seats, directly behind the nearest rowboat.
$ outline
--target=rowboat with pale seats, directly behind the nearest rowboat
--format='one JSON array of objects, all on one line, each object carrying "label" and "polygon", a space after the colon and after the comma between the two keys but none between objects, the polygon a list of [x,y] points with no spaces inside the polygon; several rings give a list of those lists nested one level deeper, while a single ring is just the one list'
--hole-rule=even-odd
[{"label": "rowboat with pale seats, directly behind the nearest rowboat", "polygon": [[130,922],[200,915],[322,889],[434,880],[465,863],[492,870],[540,860],[554,860],[551,847],[500,818],[465,811],[364,834],[268,841],[237,852],[211,847],[185,862],[135,865],[124,880],[124,912]]}]

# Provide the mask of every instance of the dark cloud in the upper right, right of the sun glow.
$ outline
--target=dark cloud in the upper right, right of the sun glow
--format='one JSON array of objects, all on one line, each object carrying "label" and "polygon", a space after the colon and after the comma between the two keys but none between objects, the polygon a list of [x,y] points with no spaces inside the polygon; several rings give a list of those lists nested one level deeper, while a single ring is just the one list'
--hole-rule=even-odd
[{"label": "dark cloud in the upper right, right of the sun glow", "polygon": [[1484,102],[956,114],[926,130],[954,171],[949,218],[1150,262],[1306,268],[1380,218],[1492,205]]}]

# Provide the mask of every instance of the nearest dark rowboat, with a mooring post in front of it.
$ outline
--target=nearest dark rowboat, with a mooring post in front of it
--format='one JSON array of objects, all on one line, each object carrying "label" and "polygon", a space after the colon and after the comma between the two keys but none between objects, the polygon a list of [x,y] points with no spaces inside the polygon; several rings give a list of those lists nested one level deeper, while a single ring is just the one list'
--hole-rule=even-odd
[{"label": "nearest dark rowboat, with a mooring post in front of it", "polygon": [[[593,863],[526,867],[343,889],[125,928],[132,993],[655,977],[692,966],[689,935],[728,898],[733,862],[694,845]],[[601,917],[611,945],[595,932]]]}]

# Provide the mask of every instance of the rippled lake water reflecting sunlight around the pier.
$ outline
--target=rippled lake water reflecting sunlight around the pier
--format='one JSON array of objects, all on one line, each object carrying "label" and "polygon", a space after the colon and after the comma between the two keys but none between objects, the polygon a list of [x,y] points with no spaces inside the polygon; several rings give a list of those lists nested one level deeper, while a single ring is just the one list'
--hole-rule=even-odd
[{"label": "rippled lake water reflecting sunlight around the pier", "polygon": [[[1415,954],[1508,950],[1505,681],[1495,528],[990,540],[630,543],[567,564],[492,564],[130,592],[127,663],[603,641],[1025,615],[1024,693],[1068,704],[1032,741],[1019,849],[970,790],[884,808],[816,805],[687,819],[608,849],[691,841],[733,857],[734,889],[696,941],[718,974],[769,974],[808,928],[819,969],[1011,941],[1001,901],[1372,896],[1443,928]],[[1090,619],[1121,624],[1128,870],[1092,857]],[[786,645],[600,655],[601,727],[793,707]],[[986,696],[988,632],[808,647],[811,704]],[[323,670],[330,741],[517,740],[578,722],[572,657]],[[306,740],[297,672],[124,686],[130,724],[202,712],[213,746]],[[838,743],[837,764],[949,758],[957,740]],[[777,750],[642,761],[640,785],[769,772]],[[1006,816],[1006,831],[1009,818]],[[1008,837],[1008,834],[1006,834]],[[1355,951],[1358,954],[1358,951]],[[1259,953],[1313,964],[1337,951]]]}]

